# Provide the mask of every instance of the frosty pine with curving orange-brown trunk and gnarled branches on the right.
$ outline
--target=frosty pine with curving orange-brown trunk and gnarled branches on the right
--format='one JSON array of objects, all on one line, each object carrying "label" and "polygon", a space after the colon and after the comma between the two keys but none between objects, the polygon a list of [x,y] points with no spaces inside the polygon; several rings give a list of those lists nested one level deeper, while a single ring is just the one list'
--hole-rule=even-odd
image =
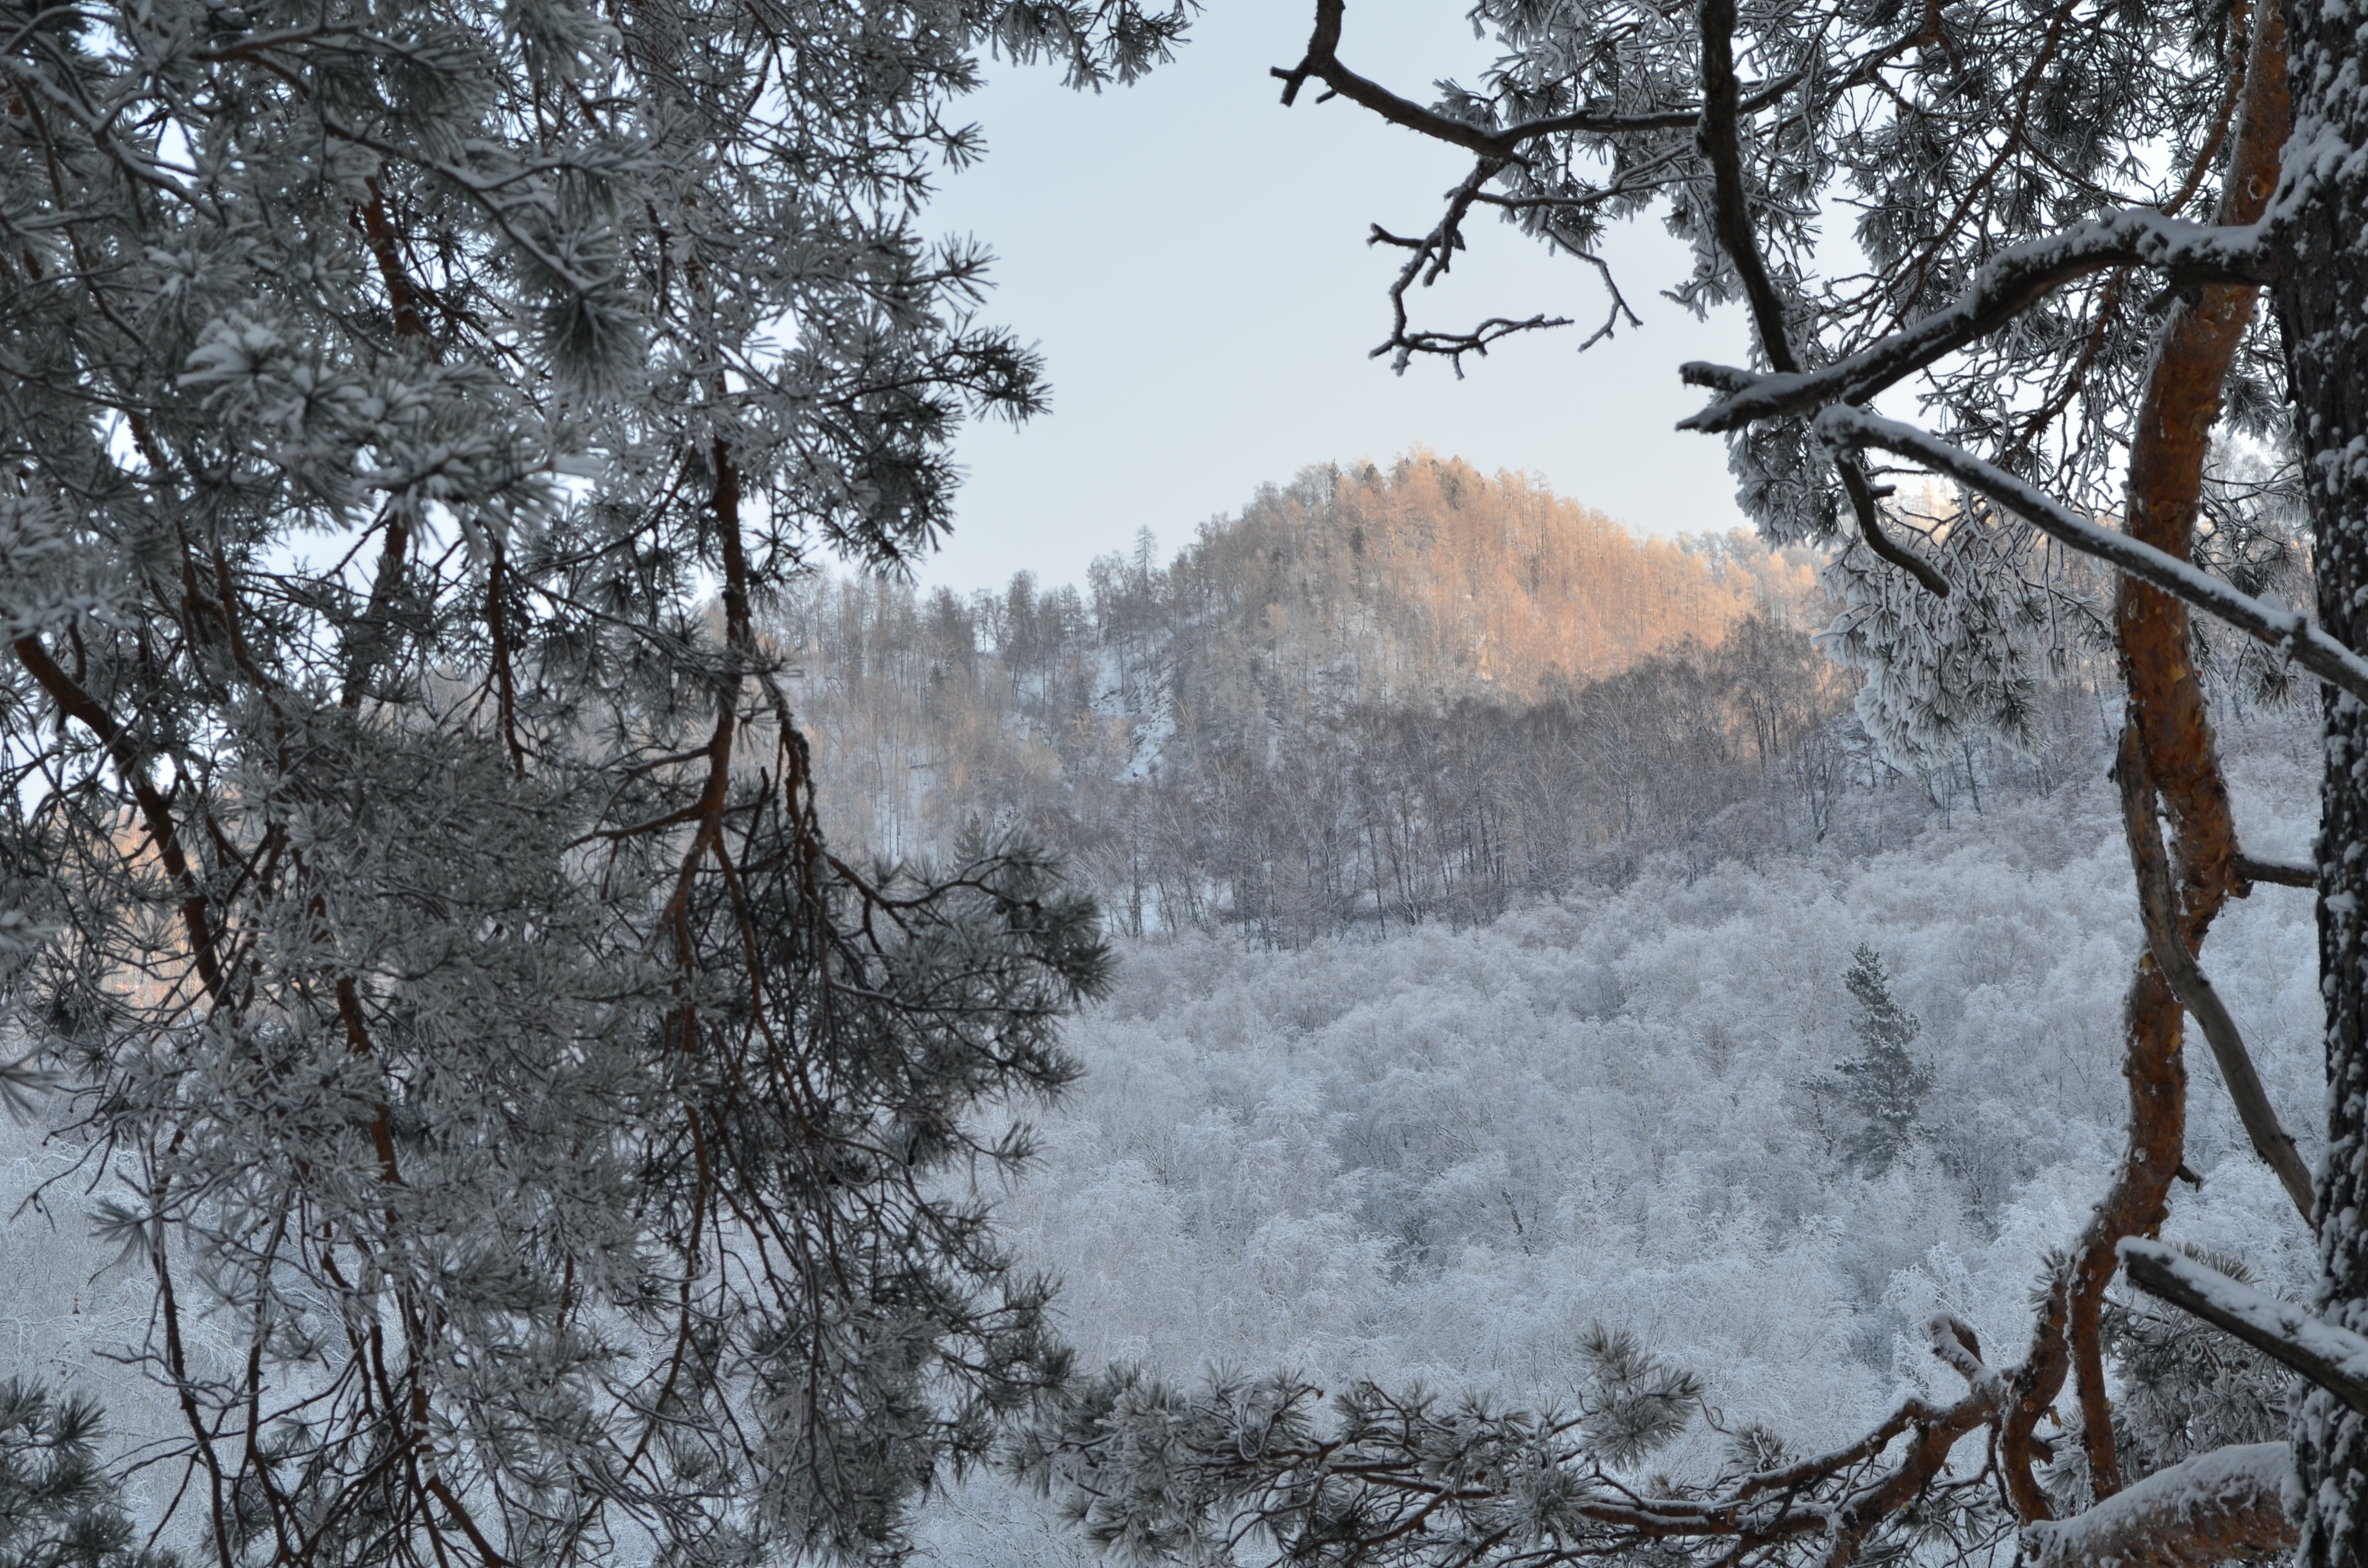
[{"label": "frosty pine with curving orange-brown trunk and gnarled branches on the right", "polygon": [[[1482,213],[1608,284],[1598,339],[1641,324],[1606,234],[1653,216],[1693,249],[1691,268],[1658,282],[1698,308],[1740,301],[1755,339],[1748,365],[1672,367],[1705,388],[1684,426],[1726,438],[1738,500],[1767,540],[1835,550],[1845,613],[1828,647],[1866,673],[1859,713],[1883,744],[1944,753],[1970,727],[2025,734],[2034,682],[2089,637],[2112,640],[2129,680],[2115,779],[2145,933],[2124,1009],[2129,1137],[2079,1236],[2036,1281],[2022,1360],[1984,1360],[1970,1326],[1939,1317],[1930,1348],[1963,1376],[1958,1402],[1916,1402],[1823,1459],[1707,1497],[1672,1485],[1636,1509],[1579,1452],[1473,1485],[1480,1442],[1409,1433],[1399,1457],[1456,1483],[1392,1502],[1499,1504],[1513,1521],[1428,1561],[1610,1556],[1584,1530],[1613,1525],[1639,1556],[1776,1563],[1800,1551],[1785,1521],[1814,1514],[1819,1561],[1845,1568],[1916,1544],[1965,1442],[1989,1497],[2022,1523],[2022,1554],[2051,1568],[2264,1559],[2295,1547],[2297,1528],[2306,1568],[2359,1568],[2363,1395],[2297,1348],[2368,1331],[2368,33],[2356,7],[1482,0],[1471,21],[1494,38],[1492,62],[1428,104],[1357,69],[1369,40],[1345,0],[1312,12],[1305,54],[1276,69],[1286,104],[1347,99],[1392,135],[1471,156],[1423,225],[1371,230],[1402,253],[1376,353],[1399,369],[1421,355],[1461,369],[1511,334],[1568,324],[1520,310],[1471,327],[1416,320],[1416,284],[1461,258]],[[1835,256],[1826,225],[1845,213],[1849,270],[1821,275]],[[1911,384],[1916,422],[1871,412]],[[2207,516],[2216,426],[2292,462],[2280,483]],[[1918,476],[1946,486],[1939,507],[1911,502]],[[2269,597],[2233,571],[2228,542],[2280,507],[2306,509],[2316,583],[2297,573],[2285,590],[2299,592]],[[2067,554],[2110,576],[2067,573]],[[2287,609],[2314,595],[2316,623]],[[2325,687],[2311,872],[2240,853],[2202,677],[2233,640]],[[2316,1194],[2200,966],[2226,900],[2259,881],[2321,891],[2330,1153]],[[2250,1343],[2325,1386],[2302,1402],[2290,1454],[2224,1447],[2193,1461],[2188,1487],[2157,1478],[2124,1506],[2053,1521],[2039,1426],[2063,1395],[2077,1397],[2093,1497],[2124,1490],[2103,1300],[2124,1253],[2143,1255],[2134,1248],[2171,1210],[2186,1014],[2321,1244],[2321,1322]],[[1800,1487],[1828,1483],[1830,1506],[1795,1506]],[[1523,1511],[1546,1495],[1568,1511]],[[1295,1497],[1317,1535],[1291,1537],[1293,1556],[1307,1540],[1305,1556],[1364,1561],[1404,1540],[1326,1476]],[[1331,1511],[1314,1518],[1319,1497]],[[2302,1499],[2297,1518],[2285,1497]],[[1212,1514],[1238,1525],[1260,1506],[1238,1492]],[[1499,1540],[1520,1544],[1499,1556]]]}]

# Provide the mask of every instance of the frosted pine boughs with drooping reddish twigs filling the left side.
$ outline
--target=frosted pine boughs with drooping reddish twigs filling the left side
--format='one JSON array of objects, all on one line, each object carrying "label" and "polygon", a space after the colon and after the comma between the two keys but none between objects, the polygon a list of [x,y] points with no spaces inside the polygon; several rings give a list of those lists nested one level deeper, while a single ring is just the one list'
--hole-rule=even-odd
[{"label": "frosted pine boughs with drooping reddish twigs filling the left side", "polygon": [[1177,12],[0,7],[0,1056],[232,1563],[895,1554],[1061,1374],[1092,905],[855,867],[755,611],[1042,405],[919,208]]}]

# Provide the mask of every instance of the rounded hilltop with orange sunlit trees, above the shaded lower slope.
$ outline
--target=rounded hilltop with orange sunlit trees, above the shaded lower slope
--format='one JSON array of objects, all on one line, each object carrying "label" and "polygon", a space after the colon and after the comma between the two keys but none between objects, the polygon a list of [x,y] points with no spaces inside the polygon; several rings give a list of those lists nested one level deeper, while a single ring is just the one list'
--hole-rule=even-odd
[{"label": "rounded hilltop with orange sunlit trees, above the shaded lower slope", "polygon": [[1525,696],[1717,642],[1809,590],[1807,559],[1641,540],[1525,476],[1428,455],[1307,469],[1203,526],[1165,571],[1141,540],[1089,576],[1118,661],[1165,666],[1177,689],[1250,682],[1269,706]]}]

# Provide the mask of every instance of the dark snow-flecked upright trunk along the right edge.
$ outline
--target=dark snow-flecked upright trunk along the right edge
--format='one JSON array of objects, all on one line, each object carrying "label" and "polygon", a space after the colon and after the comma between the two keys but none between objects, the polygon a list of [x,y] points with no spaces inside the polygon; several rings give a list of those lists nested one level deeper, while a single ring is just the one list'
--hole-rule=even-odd
[{"label": "dark snow-flecked upright trunk along the right edge", "polygon": [[[2368,36],[2342,0],[2285,0],[2295,137],[2278,206],[2278,315],[2295,386],[2318,616],[2368,642]],[[2318,962],[2328,1004],[2328,1161],[2318,1307],[2368,1331],[2368,708],[2328,694]],[[2299,1568],[2368,1563],[2368,1419],[2311,1393],[2295,1421]]]}]

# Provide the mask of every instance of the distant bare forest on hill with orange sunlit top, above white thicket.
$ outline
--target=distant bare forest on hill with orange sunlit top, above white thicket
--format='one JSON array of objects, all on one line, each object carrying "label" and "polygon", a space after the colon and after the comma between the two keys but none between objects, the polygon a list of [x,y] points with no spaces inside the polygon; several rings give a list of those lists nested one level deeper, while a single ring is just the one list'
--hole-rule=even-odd
[{"label": "distant bare forest on hill with orange sunlit top, above white thicket", "polygon": [[[1894,767],[1812,642],[1816,557],[1641,540],[1516,474],[1319,467],[1085,587],[822,576],[772,609],[843,850],[1021,829],[1127,933],[1298,945],[1868,836],[2048,791],[2103,737],[2093,673],[2029,756]],[[1840,722],[1838,722],[1840,720]]]}]

